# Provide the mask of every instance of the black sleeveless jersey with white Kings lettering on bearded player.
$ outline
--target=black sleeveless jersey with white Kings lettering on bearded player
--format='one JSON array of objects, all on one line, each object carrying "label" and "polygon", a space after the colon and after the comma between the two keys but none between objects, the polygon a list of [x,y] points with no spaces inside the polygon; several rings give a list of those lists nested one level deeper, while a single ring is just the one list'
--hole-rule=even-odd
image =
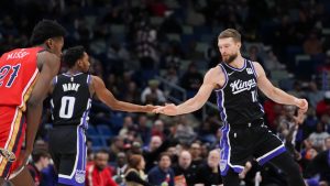
[{"label": "black sleeveless jersey with white Kings lettering on bearded player", "polygon": [[258,102],[252,62],[244,59],[244,66],[240,69],[223,62],[219,67],[226,76],[222,88],[216,90],[221,120],[230,124],[244,124],[262,118],[264,109]]}]

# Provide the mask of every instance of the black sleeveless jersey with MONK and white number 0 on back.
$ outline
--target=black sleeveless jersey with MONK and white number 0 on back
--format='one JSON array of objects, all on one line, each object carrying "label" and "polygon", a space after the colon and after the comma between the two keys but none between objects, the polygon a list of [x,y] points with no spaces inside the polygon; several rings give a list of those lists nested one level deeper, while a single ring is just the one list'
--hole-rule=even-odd
[{"label": "black sleeveless jersey with MONK and white number 0 on back", "polygon": [[87,127],[91,103],[90,79],[91,76],[84,73],[62,74],[54,78],[51,99],[54,125]]}]

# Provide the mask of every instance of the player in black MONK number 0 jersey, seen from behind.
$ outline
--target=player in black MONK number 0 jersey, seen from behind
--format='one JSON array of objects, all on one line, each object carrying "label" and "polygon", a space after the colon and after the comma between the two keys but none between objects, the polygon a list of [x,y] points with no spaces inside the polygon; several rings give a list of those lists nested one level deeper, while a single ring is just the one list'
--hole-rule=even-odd
[{"label": "player in black MONK number 0 jersey, seen from behind", "polygon": [[85,185],[86,129],[91,98],[98,97],[113,110],[152,112],[154,106],[138,106],[117,100],[98,76],[88,74],[89,57],[82,46],[63,55],[68,72],[54,78],[51,95],[54,128],[50,152],[58,172],[58,185]]}]

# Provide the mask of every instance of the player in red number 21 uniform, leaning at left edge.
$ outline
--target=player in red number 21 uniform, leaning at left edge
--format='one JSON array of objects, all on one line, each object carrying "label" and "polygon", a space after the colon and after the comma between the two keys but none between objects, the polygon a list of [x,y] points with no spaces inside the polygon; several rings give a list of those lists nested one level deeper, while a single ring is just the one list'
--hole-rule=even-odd
[{"label": "player in red number 21 uniform, leaning at left edge", "polygon": [[[55,21],[40,21],[30,48],[16,48],[0,58],[0,185],[32,186],[25,167],[33,150],[47,87],[59,68],[65,30]],[[25,150],[21,152],[25,136]],[[20,158],[19,158],[20,154]]]}]

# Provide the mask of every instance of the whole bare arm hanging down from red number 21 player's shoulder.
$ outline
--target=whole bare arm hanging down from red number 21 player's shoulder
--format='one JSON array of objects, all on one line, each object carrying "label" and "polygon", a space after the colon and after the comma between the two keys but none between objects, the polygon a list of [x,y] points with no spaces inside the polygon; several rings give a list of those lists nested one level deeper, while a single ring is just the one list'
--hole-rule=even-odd
[{"label": "whole bare arm hanging down from red number 21 player's shoulder", "polygon": [[50,52],[37,55],[37,64],[42,64],[40,75],[26,102],[26,151],[33,150],[33,142],[41,120],[43,100],[45,99],[51,80],[58,73],[59,57]]}]

